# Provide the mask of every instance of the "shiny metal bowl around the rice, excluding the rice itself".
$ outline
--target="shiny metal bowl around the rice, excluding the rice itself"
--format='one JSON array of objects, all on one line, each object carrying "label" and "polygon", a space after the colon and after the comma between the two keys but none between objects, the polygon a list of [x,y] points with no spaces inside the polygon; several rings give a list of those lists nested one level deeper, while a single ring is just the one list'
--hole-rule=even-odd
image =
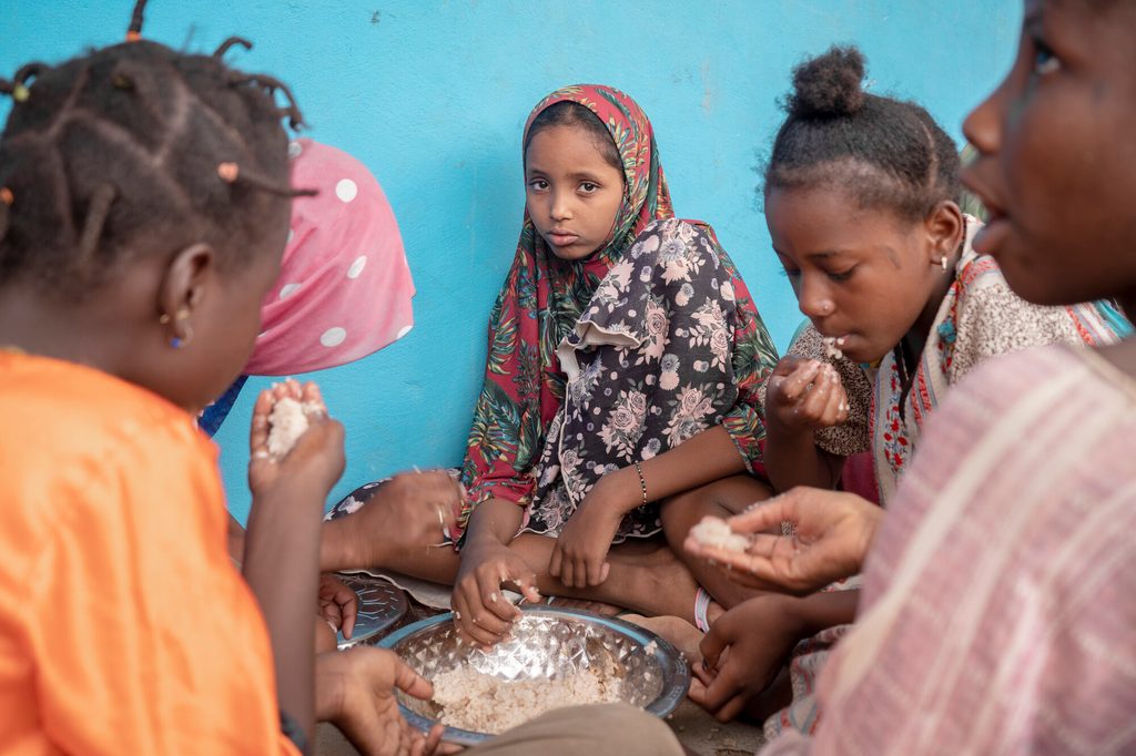
[{"label": "shiny metal bowl around the rice, excluding the rice itself", "polygon": [[[668,641],[637,625],[591,612],[526,606],[512,637],[487,652],[458,640],[450,612],[408,624],[379,641],[427,680],[460,666],[502,680],[554,680],[611,660],[624,680],[624,700],[665,717],[691,684],[686,660]],[[438,708],[399,692],[399,708],[415,728],[428,732]],[[443,739],[465,746],[491,738],[446,726]]]}]

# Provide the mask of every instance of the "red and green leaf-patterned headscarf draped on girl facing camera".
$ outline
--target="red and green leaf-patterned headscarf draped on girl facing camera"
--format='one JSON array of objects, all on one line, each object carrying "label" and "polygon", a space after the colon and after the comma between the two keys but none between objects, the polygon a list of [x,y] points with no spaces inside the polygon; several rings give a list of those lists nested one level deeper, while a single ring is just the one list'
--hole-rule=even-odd
[{"label": "red and green leaf-patterned headscarf draped on girl facing camera", "polygon": [[571,331],[600,282],[653,220],[674,217],[654,132],[629,96],[579,84],[541,100],[525,124],[557,102],[576,102],[608,127],[624,163],[624,202],[611,242],[585,260],[557,258],[525,212],[517,253],[490,314],[485,384],[474,411],[462,480],[470,499],[524,502],[549,426],[565,396],[557,346]]}]

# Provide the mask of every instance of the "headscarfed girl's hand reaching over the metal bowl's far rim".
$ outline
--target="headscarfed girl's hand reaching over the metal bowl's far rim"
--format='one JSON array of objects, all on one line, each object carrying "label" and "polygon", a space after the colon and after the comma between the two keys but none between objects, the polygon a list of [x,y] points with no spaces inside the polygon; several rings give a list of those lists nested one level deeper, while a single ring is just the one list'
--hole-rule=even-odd
[{"label": "headscarfed girl's hand reaching over the metal bowl's far rim", "polygon": [[508,546],[488,540],[466,546],[450,599],[458,637],[483,646],[504,639],[520,610],[501,595],[501,586],[516,588],[527,600],[541,600],[536,573]]}]

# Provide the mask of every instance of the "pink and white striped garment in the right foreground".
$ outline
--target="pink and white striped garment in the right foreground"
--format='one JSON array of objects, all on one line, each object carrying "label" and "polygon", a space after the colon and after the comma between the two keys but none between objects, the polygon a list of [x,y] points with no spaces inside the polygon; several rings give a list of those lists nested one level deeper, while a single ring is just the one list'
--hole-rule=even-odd
[{"label": "pink and white striped garment in the right foreground", "polygon": [[1136,381],[1047,347],[928,421],[821,674],[762,754],[1136,753]]}]

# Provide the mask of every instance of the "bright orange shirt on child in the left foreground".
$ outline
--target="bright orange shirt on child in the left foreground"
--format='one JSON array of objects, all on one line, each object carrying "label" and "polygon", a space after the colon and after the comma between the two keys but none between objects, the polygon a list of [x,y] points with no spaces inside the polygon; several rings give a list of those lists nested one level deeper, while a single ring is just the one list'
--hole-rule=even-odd
[{"label": "bright orange shirt on child in the left foreground", "polygon": [[0,352],[0,754],[295,754],[216,448],[154,394]]}]

